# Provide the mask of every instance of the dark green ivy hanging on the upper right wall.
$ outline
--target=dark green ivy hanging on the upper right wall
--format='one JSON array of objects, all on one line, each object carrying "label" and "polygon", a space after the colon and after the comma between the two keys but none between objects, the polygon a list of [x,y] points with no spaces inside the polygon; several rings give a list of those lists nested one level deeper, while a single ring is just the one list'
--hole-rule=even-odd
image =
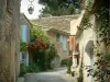
[{"label": "dark green ivy hanging on the upper right wall", "polygon": [[97,22],[100,23],[100,26],[96,28],[99,32],[98,37],[101,37],[100,42],[105,42],[107,45],[110,44],[109,12],[110,9],[100,8],[96,13]]}]

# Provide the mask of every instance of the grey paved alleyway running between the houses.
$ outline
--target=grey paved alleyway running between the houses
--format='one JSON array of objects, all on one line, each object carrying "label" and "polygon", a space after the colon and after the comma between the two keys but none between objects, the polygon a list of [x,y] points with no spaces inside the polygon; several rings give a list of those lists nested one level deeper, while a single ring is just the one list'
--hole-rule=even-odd
[{"label": "grey paved alleyway running between the houses", "polygon": [[53,71],[42,73],[29,73],[25,75],[25,82],[75,82],[74,78],[66,73],[66,68],[59,68]]}]

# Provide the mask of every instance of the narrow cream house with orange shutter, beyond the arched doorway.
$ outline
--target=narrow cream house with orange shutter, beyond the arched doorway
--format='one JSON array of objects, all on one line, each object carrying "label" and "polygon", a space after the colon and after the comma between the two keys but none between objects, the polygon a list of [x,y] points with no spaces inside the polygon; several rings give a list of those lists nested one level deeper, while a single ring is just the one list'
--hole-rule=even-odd
[{"label": "narrow cream house with orange shutter, beyond the arched doorway", "polygon": [[76,33],[78,32],[77,26],[80,24],[85,11],[81,11],[78,19],[70,21],[70,36],[69,36],[69,50],[73,55],[73,67],[77,67],[80,59],[79,44],[76,40]]}]

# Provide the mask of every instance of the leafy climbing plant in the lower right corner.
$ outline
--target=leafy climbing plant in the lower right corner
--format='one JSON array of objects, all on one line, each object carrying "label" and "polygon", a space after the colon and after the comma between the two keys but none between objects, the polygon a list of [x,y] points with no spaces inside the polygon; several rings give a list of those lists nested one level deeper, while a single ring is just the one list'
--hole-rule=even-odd
[{"label": "leafy climbing plant in the lower right corner", "polygon": [[[99,57],[95,62],[96,69],[89,69],[88,75],[96,78],[96,81],[99,82],[110,82],[109,73],[110,72],[110,55],[97,54]],[[92,72],[92,73],[91,73]]]}]

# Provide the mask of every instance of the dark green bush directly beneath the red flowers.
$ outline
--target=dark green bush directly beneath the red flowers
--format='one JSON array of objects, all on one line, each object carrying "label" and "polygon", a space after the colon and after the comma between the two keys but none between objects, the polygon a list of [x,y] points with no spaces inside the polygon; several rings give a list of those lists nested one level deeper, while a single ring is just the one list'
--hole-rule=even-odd
[{"label": "dark green bush directly beneath the red flowers", "polygon": [[38,66],[40,71],[52,69],[51,62],[57,55],[57,51],[53,44],[50,44],[47,49],[36,49],[31,52],[34,56],[33,62]]}]

